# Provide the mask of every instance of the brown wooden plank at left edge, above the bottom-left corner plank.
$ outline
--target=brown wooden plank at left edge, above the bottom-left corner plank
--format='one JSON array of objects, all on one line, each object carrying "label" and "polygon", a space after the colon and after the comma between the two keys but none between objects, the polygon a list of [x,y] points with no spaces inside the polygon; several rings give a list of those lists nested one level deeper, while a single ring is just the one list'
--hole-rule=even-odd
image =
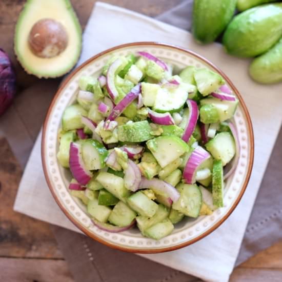
[{"label": "brown wooden plank at left edge, above the bottom-left corner plank", "polygon": [[22,170],[5,138],[0,156],[0,256],[62,258],[49,224],[13,211]]}]

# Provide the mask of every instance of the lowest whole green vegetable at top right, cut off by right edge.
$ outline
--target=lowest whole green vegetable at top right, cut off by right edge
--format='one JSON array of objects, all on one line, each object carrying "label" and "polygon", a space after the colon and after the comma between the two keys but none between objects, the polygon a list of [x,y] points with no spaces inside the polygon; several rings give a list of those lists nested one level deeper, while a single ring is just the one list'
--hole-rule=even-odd
[{"label": "lowest whole green vegetable at top right, cut off by right edge", "polygon": [[249,73],[258,83],[282,81],[282,38],[269,51],[253,60]]}]

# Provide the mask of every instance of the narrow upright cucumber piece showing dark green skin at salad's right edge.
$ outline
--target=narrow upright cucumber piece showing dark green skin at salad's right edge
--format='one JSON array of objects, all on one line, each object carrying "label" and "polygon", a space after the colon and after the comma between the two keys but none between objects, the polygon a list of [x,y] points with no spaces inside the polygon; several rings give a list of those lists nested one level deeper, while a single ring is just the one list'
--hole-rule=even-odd
[{"label": "narrow upright cucumber piece showing dark green skin at salad's right edge", "polygon": [[223,163],[221,160],[214,160],[212,170],[212,198],[213,205],[216,207],[223,207]]}]

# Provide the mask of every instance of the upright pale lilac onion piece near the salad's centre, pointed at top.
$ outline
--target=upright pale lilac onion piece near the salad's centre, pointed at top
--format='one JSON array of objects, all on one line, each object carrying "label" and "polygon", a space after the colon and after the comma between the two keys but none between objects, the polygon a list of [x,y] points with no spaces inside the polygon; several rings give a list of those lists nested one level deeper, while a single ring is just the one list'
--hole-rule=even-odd
[{"label": "upright pale lilac onion piece near the salad's centre, pointed at top", "polygon": [[131,159],[128,160],[128,166],[124,173],[125,188],[133,192],[138,190],[139,184],[141,182],[141,172]]}]

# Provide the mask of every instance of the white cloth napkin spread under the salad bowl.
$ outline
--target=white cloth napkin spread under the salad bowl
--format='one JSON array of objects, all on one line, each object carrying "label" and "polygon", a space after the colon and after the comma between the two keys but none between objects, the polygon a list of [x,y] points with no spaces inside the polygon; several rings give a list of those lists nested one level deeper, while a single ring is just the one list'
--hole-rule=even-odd
[{"label": "white cloth napkin spread under the salad bowl", "polygon": [[[279,86],[260,86],[247,74],[248,60],[227,55],[221,45],[197,45],[185,30],[105,3],[96,3],[86,27],[79,63],[118,44],[157,41],[190,49],[210,59],[233,81],[244,96],[255,134],[255,165],[238,207],[216,231],[181,250],[143,255],[158,263],[205,280],[227,281],[235,264],[252,206],[281,125]],[[265,95],[268,93],[268,95]],[[39,134],[31,153],[14,209],[32,217],[77,231],[55,204],[41,168]]]}]

